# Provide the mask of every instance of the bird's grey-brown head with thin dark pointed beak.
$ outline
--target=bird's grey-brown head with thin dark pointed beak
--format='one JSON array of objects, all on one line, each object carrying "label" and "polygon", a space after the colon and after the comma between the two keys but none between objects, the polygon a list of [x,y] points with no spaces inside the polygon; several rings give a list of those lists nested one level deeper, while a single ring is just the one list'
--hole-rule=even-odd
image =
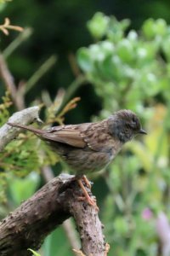
[{"label": "bird's grey-brown head with thin dark pointed beak", "polygon": [[147,134],[140,125],[139,118],[131,110],[117,111],[108,119],[111,136],[116,137],[122,143],[130,141],[138,134]]}]

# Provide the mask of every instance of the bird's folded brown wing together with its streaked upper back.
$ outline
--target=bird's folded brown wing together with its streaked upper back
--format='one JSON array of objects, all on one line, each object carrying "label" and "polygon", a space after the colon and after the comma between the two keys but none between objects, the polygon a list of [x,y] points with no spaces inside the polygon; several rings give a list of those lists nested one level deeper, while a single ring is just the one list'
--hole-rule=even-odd
[{"label": "bird's folded brown wing together with its streaked upper back", "polygon": [[48,141],[65,143],[75,148],[89,147],[94,151],[108,148],[111,136],[108,134],[107,123],[84,123],[80,125],[54,126],[41,134]]}]

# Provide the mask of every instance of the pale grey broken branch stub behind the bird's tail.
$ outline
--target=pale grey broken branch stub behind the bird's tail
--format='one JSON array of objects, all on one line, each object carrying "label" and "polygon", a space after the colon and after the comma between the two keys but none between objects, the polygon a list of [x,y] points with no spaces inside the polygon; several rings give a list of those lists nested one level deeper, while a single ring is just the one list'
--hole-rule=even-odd
[{"label": "pale grey broken branch stub behind the bird's tail", "polygon": [[[28,125],[38,120],[38,107],[31,107],[26,108],[20,112],[14,113],[9,119],[8,122],[11,123],[20,123]],[[18,129],[11,129],[11,126],[9,125],[3,125],[0,128],[0,152],[3,151],[3,148],[14,139],[18,134],[20,133],[20,130]]]}]

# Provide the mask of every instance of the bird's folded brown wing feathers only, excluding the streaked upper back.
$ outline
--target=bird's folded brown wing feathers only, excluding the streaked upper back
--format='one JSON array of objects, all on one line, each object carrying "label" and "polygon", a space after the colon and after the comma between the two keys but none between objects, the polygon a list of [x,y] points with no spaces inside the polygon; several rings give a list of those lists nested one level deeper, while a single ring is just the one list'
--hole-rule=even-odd
[{"label": "bird's folded brown wing feathers only, excluding the streaked upper back", "polygon": [[[86,126],[86,124],[83,124]],[[87,124],[88,125],[88,124]],[[48,141],[65,143],[75,148],[85,148],[87,143],[81,135],[81,131],[86,129],[82,125],[61,125],[55,126],[41,134],[41,137]]]}]

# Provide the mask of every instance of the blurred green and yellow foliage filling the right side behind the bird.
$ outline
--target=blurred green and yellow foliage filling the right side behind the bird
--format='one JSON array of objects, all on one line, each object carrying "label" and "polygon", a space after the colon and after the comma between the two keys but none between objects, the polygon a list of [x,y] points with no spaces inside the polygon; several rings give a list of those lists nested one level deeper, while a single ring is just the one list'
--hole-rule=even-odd
[{"label": "blurred green and yellow foliage filling the right side behind the bird", "polygon": [[170,26],[162,19],[145,20],[139,32],[128,26],[94,15],[88,30],[99,41],[79,49],[77,61],[102,102],[100,118],[130,108],[148,131],[127,143],[104,176],[110,192],[101,218],[110,253],[156,255],[156,218],[145,220],[143,212],[169,215]]}]

